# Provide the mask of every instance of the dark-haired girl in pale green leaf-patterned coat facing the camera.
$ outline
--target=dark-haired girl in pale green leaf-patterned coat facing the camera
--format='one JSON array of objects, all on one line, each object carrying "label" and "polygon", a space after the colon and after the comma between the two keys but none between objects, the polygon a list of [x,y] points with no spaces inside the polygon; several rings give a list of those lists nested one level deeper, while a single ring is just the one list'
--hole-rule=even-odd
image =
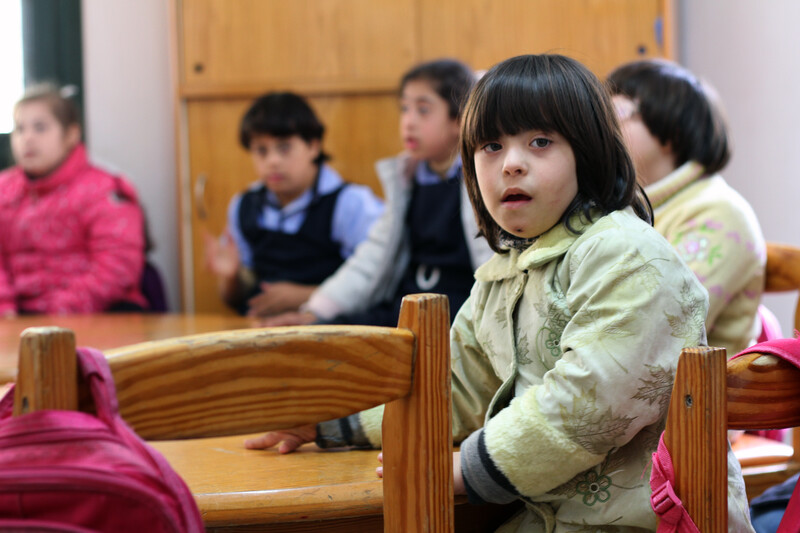
[{"label": "dark-haired girl in pale green leaf-patterned coat facing the camera", "polygon": [[[464,179],[497,252],[451,329],[454,486],[522,500],[502,532],[656,531],[648,473],[707,297],[650,225],[611,99],[575,60],[492,67],[463,115]],[[381,444],[382,411],[273,432],[279,451]],[[731,530],[750,531],[728,454]]]}]

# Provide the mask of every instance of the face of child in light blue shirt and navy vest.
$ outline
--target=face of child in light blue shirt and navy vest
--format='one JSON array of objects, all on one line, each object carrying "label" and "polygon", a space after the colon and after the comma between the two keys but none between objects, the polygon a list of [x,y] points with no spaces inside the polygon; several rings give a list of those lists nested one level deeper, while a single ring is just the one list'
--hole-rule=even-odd
[{"label": "face of child in light blue shirt and navy vest", "polygon": [[253,168],[261,182],[285,206],[299,198],[314,183],[320,143],[306,142],[299,135],[273,137],[255,134],[250,139]]}]

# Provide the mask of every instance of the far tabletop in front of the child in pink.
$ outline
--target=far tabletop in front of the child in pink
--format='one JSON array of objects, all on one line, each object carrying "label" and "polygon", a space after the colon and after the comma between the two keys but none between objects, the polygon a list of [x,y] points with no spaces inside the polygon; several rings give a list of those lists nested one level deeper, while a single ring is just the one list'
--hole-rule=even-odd
[{"label": "far tabletop in front of the child in pink", "polygon": [[152,340],[250,327],[245,317],[234,315],[184,315],[180,313],[108,313],[97,315],[26,315],[0,319],[0,384],[17,375],[19,337],[25,328],[60,326],[75,332],[78,346],[100,350]]}]

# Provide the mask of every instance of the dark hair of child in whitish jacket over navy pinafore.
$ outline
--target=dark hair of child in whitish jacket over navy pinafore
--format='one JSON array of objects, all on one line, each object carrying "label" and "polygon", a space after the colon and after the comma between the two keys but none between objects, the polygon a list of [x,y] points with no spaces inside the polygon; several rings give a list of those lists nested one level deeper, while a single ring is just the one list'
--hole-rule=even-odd
[{"label": "dark hair of child in whitish jacket over navy pinafore", "polygon": [[420,63],[403,75],[399,96],[410,81],[427,81],[433,90],[447,102],[450,118],[461,116],[461,107],[469,90],[475,85],[475,73],[467,65],[455,59],[437,59]]}]

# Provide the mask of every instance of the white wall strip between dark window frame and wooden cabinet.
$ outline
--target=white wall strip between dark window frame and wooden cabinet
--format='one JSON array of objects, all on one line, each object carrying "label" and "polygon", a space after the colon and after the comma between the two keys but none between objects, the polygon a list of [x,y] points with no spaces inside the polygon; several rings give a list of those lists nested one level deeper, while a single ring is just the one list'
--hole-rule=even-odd
[{"label": "white wall strip between dark window frame and wooden cabinet", "polygon": [[168,2],[83,0],[87,145],[133,182],[147,212],[171,310],[178,310],[178,232]]}]

